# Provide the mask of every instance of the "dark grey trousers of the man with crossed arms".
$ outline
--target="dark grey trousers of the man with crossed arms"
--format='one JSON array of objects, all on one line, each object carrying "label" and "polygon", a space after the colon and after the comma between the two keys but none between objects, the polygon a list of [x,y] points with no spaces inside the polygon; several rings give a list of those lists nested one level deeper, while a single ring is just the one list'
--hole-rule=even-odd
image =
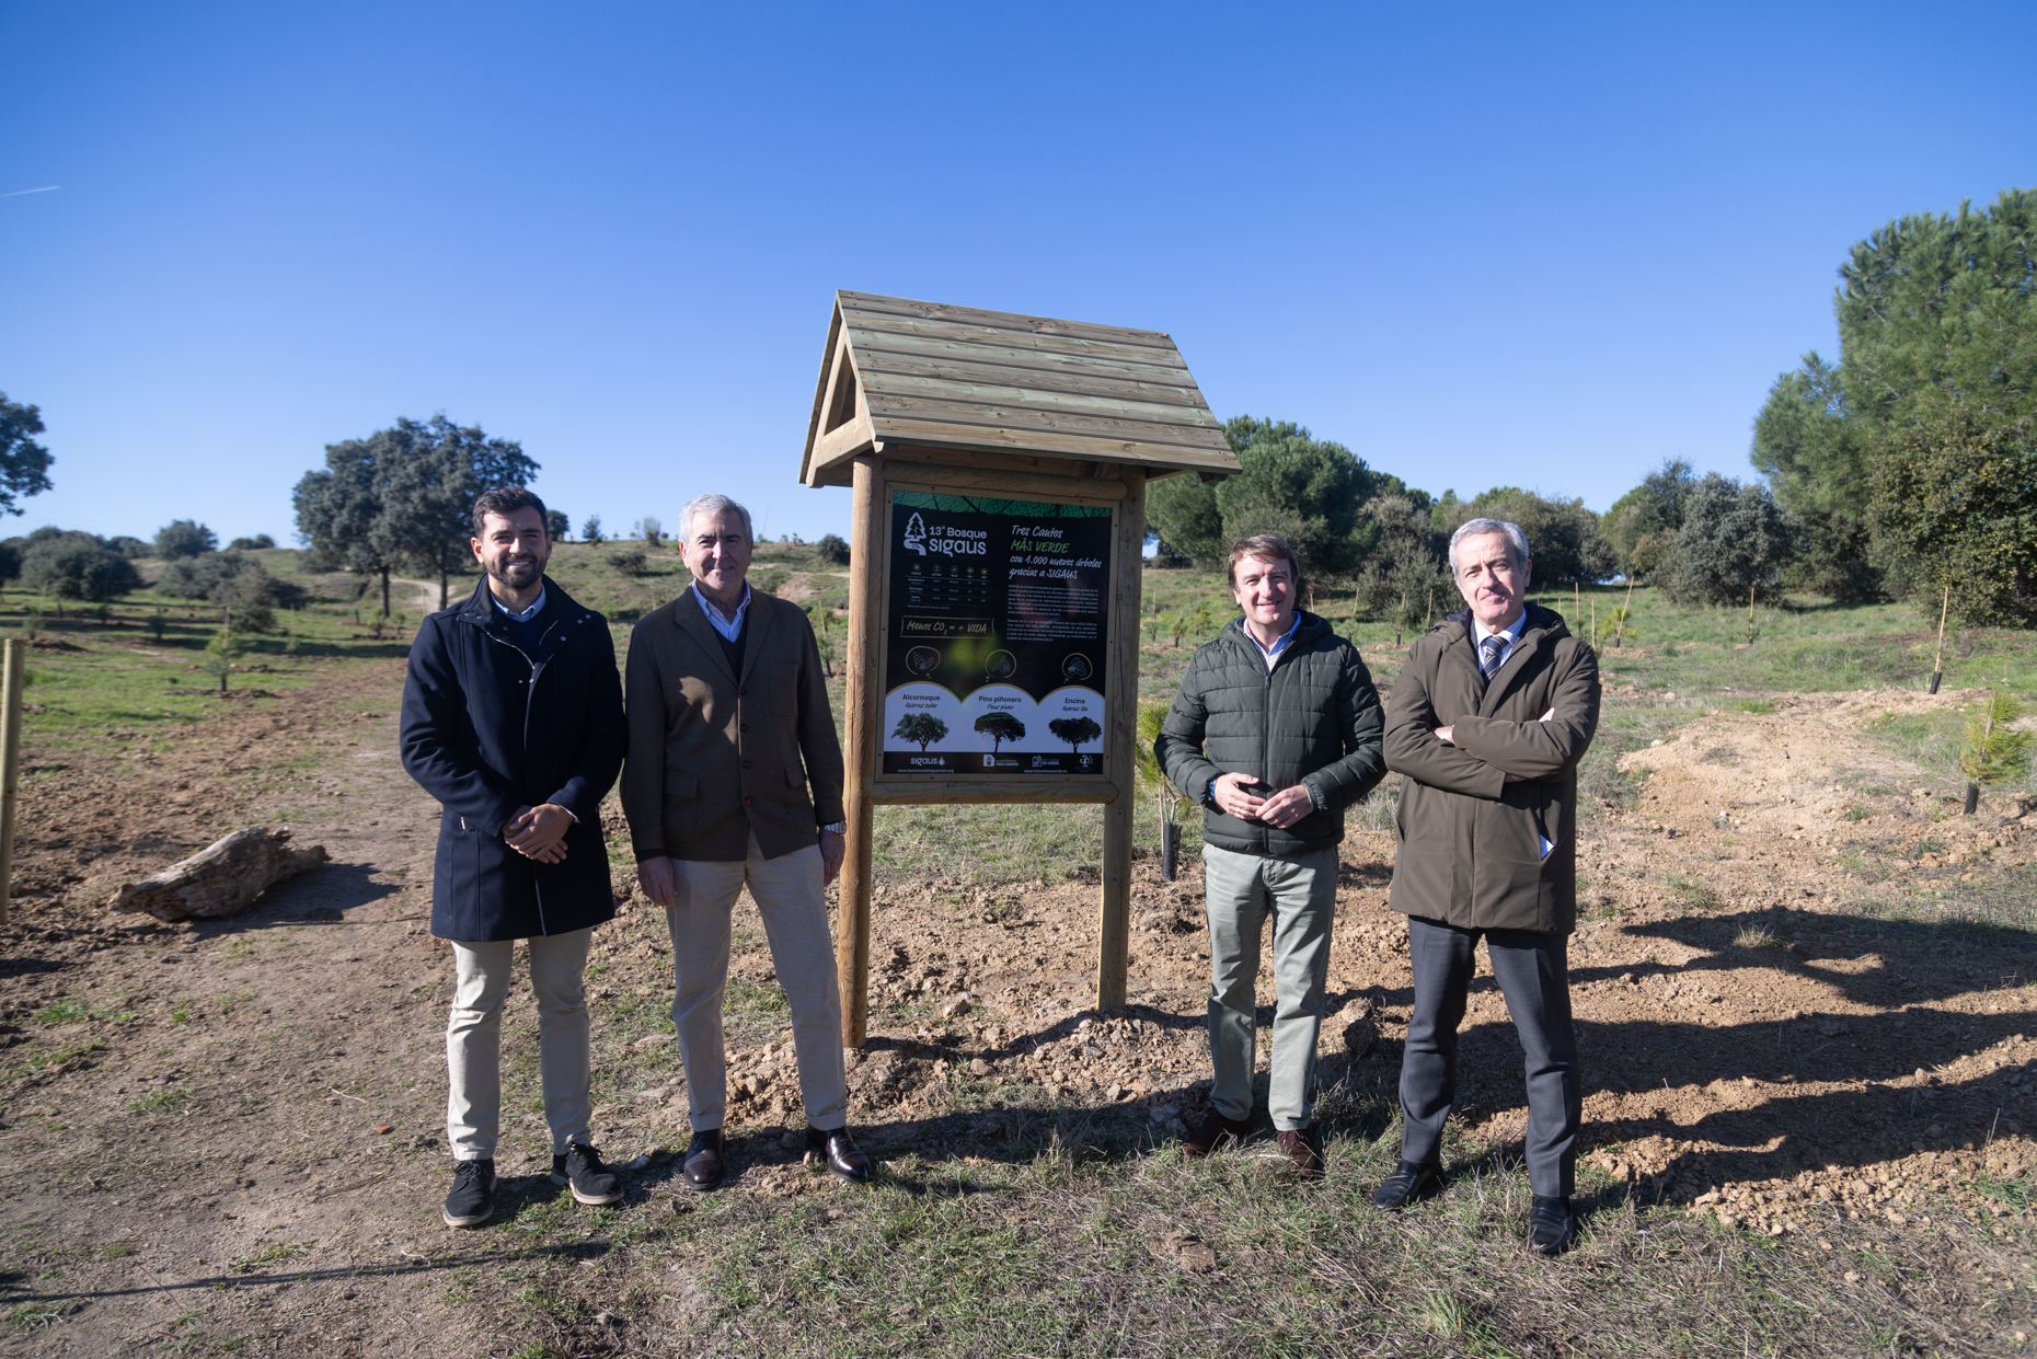
[{"label": "dark grey trousers of the man with crossed arms", "polygon": [[1414,1013],[1401,1059],[1401,1159],[1438,1157],[1442,1125],[1456,1104],[1456,1027],[1471,990],[1471,949],[1485,935],[1493,980],[1507,998],[1528,1074],[1528,1186],[1568,1198],[1577,1182],[1577,1131],[1585,1082],[1571,1029],[1568,937],[1532,929],[1461,929],[1408,917]]}]

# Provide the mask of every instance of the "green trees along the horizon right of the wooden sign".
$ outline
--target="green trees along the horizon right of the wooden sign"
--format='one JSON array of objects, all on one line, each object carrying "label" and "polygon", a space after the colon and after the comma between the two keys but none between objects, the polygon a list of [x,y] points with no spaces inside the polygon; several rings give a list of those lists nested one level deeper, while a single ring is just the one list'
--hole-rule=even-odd
[{"label": "green trees along the horizon right of the wooden sign", "polygon": [[1153,485],[1161,556],[1220,564],[1228,544],[1283,534],[1316,575],[1348,579],[1375,615],[1422,615],[1444,544],[1471,518],[1511,520],[1534,581],[1660,585],[1695,603],[1839,603],[1951,591],[1970,623],[2037,623],[2037,269],[2033,194],[1990,210],[1911,216],[1839,271],[1841,363],[1807,355],[1754,422],[1762,481],[1668,460],[1603,515],[1579,499],[1493,487],[1440,497],[1285,420],[1224,426],[1243,475]]}]

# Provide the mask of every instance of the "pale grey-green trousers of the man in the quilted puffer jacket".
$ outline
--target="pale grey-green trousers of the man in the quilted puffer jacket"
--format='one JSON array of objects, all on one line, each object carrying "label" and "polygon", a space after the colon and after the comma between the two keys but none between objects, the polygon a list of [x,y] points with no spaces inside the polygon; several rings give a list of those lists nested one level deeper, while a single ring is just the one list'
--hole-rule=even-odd
[{"label": "pale grey-green trousers of the man in the quilted puffer jacket", "polygon": [[1316,1039],[1322,1033],[1336,923],[1336,850],[1296,858],[1202,848],[1210,913],[1210,1104],[1226,1119],[1253,1112],[1259,1029],[1259,931],[1273,917],[1273,1074],[1267,1112],[1281,1133],[1310,1125]]}]

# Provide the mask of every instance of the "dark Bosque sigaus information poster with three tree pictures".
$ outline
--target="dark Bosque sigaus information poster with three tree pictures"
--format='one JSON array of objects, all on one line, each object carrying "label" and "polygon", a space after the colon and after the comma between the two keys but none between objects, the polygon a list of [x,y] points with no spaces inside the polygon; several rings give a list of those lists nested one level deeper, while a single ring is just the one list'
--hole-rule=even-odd
[{"label": "dark Bosque sigaus information poster with three tree pictures", "polygon": [[892,491],[886,774],[1104,772],[1110,509]]}]

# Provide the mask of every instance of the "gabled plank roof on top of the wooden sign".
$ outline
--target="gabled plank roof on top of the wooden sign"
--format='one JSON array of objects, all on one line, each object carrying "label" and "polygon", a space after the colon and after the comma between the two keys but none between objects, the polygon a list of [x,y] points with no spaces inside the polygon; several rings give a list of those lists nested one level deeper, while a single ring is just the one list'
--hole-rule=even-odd
[{"label": "gabled plank roof on top of the wooden sign", "polygon": [[849,485],[878,446],[1241,471],[1159,330],[837,291],[799,479]]}]

